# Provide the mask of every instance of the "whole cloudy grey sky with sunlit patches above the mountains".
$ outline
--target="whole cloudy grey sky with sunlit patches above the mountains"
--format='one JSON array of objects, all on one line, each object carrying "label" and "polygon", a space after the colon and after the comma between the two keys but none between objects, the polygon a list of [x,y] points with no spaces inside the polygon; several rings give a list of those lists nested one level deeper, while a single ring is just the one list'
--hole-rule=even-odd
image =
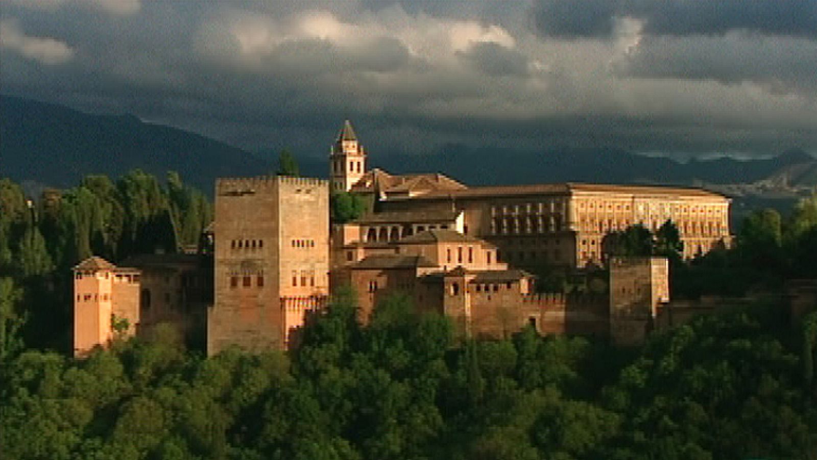
[{"label": "whole cloudy grey sky with sunlit patches above the mountains", "polygon": [[248,149],[817,154],[817,0],[0,0],[0,91]]}]

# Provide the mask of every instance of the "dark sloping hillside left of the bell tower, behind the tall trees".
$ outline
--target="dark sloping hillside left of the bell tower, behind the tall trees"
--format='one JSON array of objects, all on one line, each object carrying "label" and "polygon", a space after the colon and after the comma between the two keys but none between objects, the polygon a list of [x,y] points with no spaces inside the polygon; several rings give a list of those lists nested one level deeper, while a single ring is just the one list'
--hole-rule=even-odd
[{"label": "dark sloping hillside left of the bell tower, behind the tall trees", "polygon": [[132,115],[84,114],[0,96],[0,176],[67,187],[91,173],[118,176],[139,167],[163,177],[181,172],[208,193],[219,176],[257,176],[270,164],[247,151]]}]

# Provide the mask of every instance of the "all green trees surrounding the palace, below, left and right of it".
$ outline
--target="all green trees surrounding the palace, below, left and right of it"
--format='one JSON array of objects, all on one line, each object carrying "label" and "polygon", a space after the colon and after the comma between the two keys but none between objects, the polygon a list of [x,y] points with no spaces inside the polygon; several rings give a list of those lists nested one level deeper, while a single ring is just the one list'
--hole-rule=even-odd
[{"label": "all green trees surrounding the palace, below, left and right of it", "polygon": [[[70,357],[71,266],[179,251],[211,219],[173,173],[33,202],[0,180],[2,458],[817,459],[817,313],[792,323],[774,300],[623,349],[533,329],[462,342],[399,294],[364,327],[342,291],[288,352],[206,358],[159,327]],[[672,256],[671,234],[621,244]],[[671,270],[687,295],[741,295],[817,277],[815,257],[817,197]]]}]

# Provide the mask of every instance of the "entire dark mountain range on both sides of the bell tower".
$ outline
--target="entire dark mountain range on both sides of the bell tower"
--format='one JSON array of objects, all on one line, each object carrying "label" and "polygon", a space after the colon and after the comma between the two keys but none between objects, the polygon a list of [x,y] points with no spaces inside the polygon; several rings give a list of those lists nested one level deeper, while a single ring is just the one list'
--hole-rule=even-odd
[{"label": "entire dark mountain range on both sides of the bell tower", "polygon": [[[365,138],[363,139],[365,144]],[[299,158],[301,173],[326,176],[324,159]],[[788,150],[771,159],[721,158],[679,163],[617,149],[546,151],[471,149],[446,145],[436,154],[372,152],[370,166],[390,172],[444,172],[468,185],[557,181],[703,185],[734,195],[797,194],[817,185],[817,159]],[[61,105],[0,96],[0,176],[39,185],[75,185],[88,173],[118,176],[141,167],[212,193],[219,176],[275,170],[275,153],[252,154],[132,115],[84,114]],[[789,193],[791,192],[791,193]]]}]

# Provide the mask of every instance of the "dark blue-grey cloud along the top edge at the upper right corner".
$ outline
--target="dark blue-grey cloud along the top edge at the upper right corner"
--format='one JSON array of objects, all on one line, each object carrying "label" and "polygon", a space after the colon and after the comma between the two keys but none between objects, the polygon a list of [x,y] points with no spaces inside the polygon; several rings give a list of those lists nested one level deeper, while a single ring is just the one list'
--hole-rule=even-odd
[{"label": "dark blue-grey cloud along the top edge at the upper right corner", "polygon": [[814,0],[537,0],[536,31],[555,38],[609,38],[616,17],[644,21],[654,35],[722,35],[732,30],[817,38]]}]

